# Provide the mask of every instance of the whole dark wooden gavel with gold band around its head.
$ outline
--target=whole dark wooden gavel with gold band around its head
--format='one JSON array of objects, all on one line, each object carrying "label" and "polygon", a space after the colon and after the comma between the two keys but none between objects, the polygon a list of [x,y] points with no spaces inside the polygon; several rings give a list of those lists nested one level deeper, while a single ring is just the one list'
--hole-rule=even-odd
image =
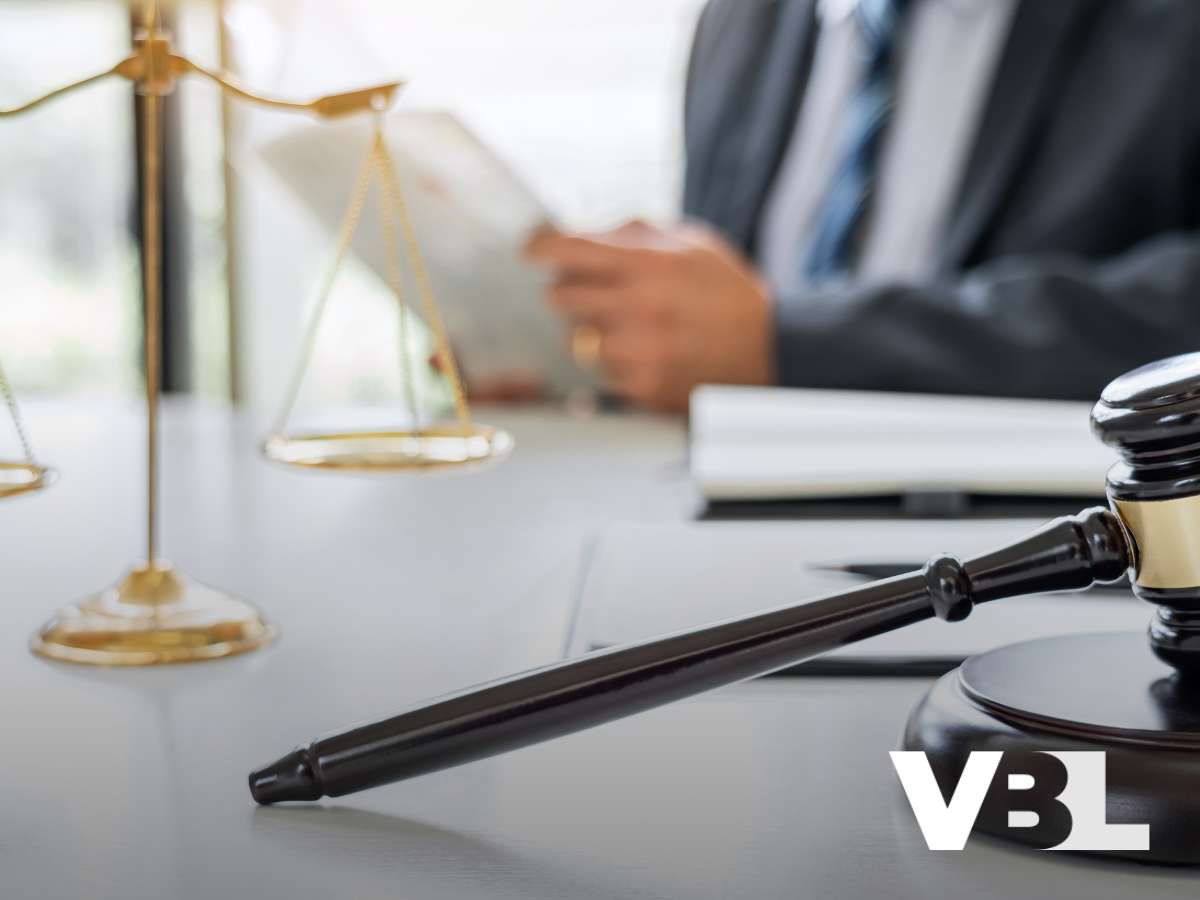
[{"label": "whole dark wooden gavel with gold band around its head", "polygon": [[[581,731],[768,674],[839,647],[1015,595],[1081,590],[1127,571],[1157,606],[1153,653],[1200,674],[1200,353],[1129,372],[1092,410],[1120,461],[1110,508],[1054,520],[971,559],[655,640],[589,653],[314,740],[250,776],[259,803],[340,797]],[[985,613],[984,613],[985,614]]]}]

